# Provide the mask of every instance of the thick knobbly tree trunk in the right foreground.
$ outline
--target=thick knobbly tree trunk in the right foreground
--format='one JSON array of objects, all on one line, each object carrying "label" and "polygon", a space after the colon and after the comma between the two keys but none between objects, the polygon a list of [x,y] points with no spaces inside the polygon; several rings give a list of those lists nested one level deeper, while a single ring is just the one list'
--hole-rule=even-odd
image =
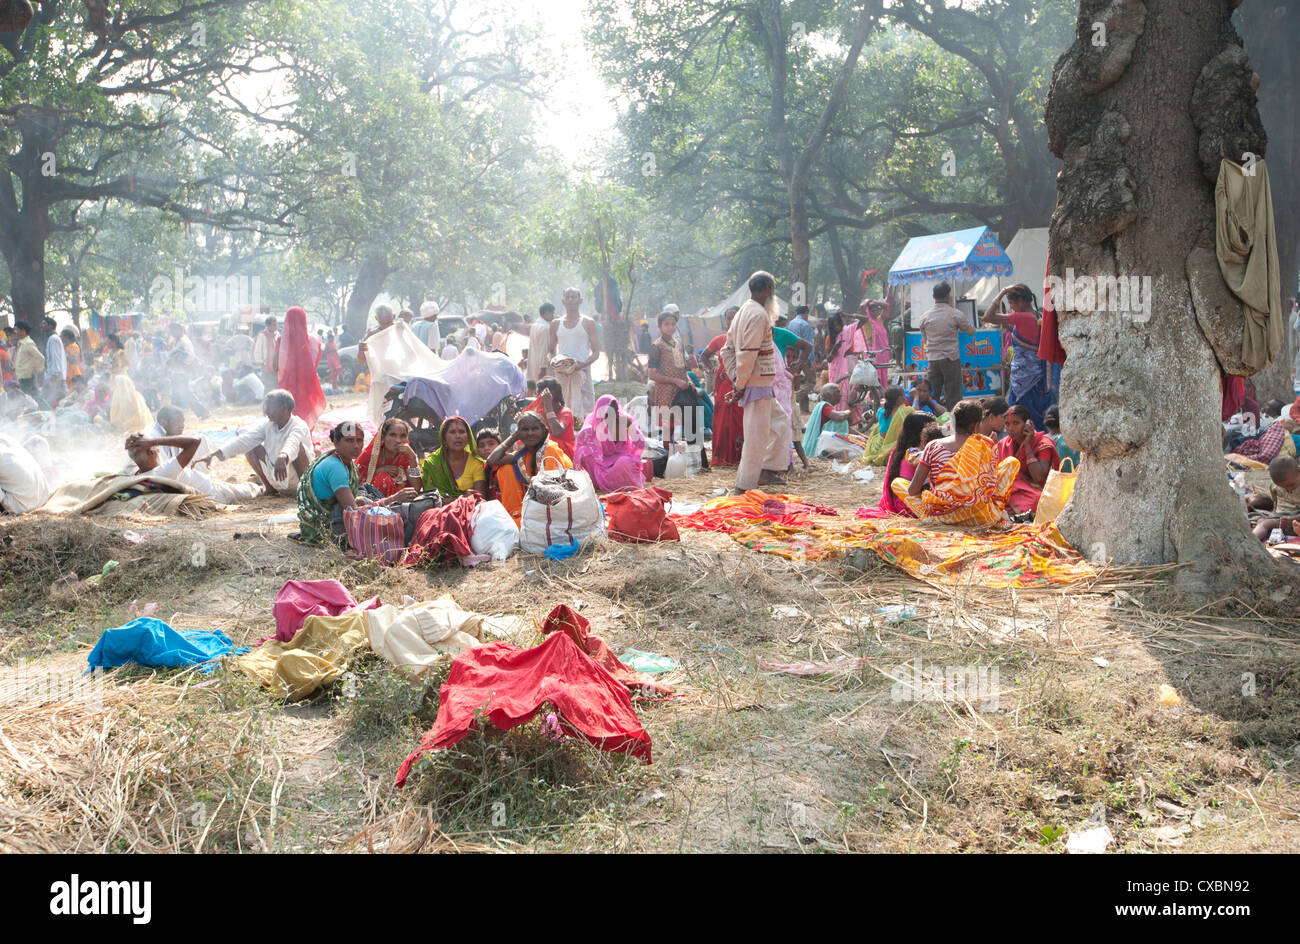
[{"label": "thick knobbly tree trunk in the right foreground", "polygon": [[1278,575],[1219,447],[1219,364],[1240,372],[1243,316],[1214,255],[1214,179],[1221,157],[1266,143],[1228,1],[1082,0],[1046,105],[1065,161],[1053,276],[1153,286],[1149,317],[1078,298],[1061,313],[1061,425],[1084,462],[1060,527],[1092,559],[1190,563],[1178,580],[1196,593]]}]

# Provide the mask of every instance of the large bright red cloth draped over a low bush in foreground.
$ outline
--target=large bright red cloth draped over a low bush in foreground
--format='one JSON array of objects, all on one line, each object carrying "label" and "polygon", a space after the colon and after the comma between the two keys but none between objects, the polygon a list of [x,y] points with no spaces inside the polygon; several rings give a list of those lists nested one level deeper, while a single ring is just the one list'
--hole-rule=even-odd
[{"label": "large bright red cloth draped over a low bush in foreground", "polygon": [[426,753],[462,741],[480,713],[510,731],[536,718],[545,702],[555,706],[567,733],[650,763],[650,735],[632,709],[627,687],[560,632],[532,649],[489,642],[458,655],[438,690],[438,718],[398,767],[396,785],[406,783]]}]

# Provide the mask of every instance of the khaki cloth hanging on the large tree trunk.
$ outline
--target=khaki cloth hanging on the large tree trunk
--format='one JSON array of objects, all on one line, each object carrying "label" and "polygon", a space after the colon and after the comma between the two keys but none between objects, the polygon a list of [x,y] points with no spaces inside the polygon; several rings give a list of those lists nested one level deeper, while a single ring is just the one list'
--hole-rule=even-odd
[{"label": "khaki cloth hanging on the large tree trunk", "polygon": [[1223,281],[1245,309],[1242,360],[1262,371],[1282,347],[1282,270],[1269,168],[1257,160],[1252,169],[1248,174],[1230,160],[1219,164],[1214,242]]}]

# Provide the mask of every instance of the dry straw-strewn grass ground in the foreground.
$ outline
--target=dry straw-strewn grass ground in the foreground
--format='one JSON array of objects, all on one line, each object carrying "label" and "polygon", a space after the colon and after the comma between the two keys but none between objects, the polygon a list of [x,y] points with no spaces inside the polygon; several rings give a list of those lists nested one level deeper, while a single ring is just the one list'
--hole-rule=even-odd
[{"label": "dry straw-strewn grass ground in the foreground", "polygon": [[[728,479],[672,486],[698,502]],[[789,490],[852,514],[879,480],[818,463]],[[1188,611],[1158,577],[939,588],[861,555],[792,563],[699,532],[566,562],[386,570],[291,544],[289,525],[266,524],[291,507],[0,525],[0,849],[1061,852],[1091,820],[1113,850],[1300,850],[1300,625],[1242,601]],[[98,588],[49,589],[109,559]],[[615,651],[672,657],[681,697],[638,705],[654,763],[529,724],[430,755],[396,791],[439,679],[413,685],[373,657],[295,705],[221,672],[120,670],[98,703],[23,689],[79,671],[133,605],[247,644],[272,631],[285,580],[325,576],[359,599],[450,592],[534,622],[567,602]],[[915,616],[885,622],[893,603]],[[845,655],[864,662],[836,676],[758,668]],[[931,675],[996,670],[996,710],[911,697],[898,680],[918,659]]]}]

